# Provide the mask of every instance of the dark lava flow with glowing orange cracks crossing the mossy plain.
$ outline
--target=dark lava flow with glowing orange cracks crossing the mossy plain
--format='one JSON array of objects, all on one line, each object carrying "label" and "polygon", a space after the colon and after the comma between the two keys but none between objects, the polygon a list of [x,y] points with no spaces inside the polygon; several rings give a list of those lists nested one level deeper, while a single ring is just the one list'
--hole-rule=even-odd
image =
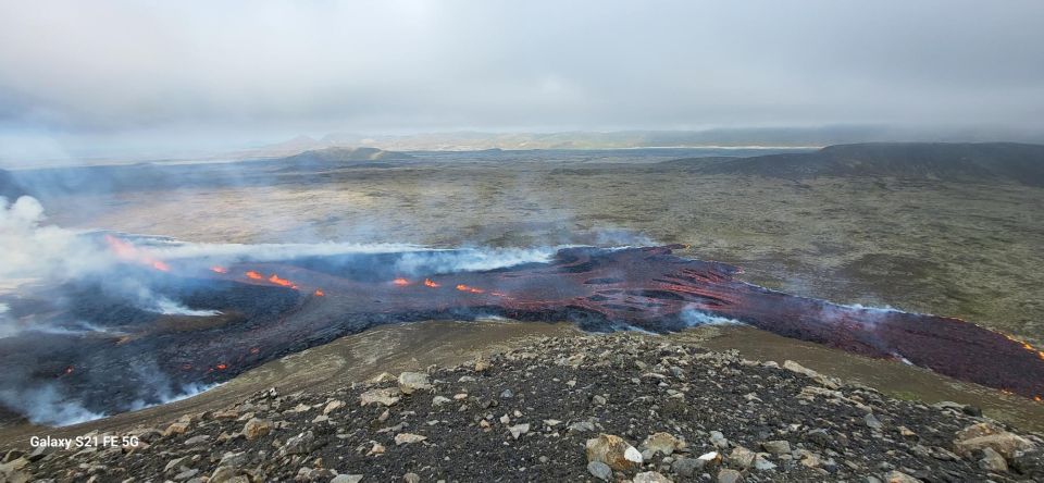
[{"label": "dark lava flow with glowing orange cracks crossing the mossy plain", "polygon": [[[395,273],[401,253],[243,262],[192,278],[161,272],[164,297],[220,314],[208,324],[170,330],[169,315],[113,310],[117,301],[104,299],[103,292],[70,293],[79,320],[137,332],[111,338],[51,334],[0,339],[0,366],[35,359],[39,367],[53,367],[52,374],[75,366],[75,372],[55,382],[67,386],[67,394],[80,395],[88,409],[112,411],[140,397],[135,367],[154,364],[174,384],[213,383],[387,323],[500,315],[573,321],[588,331],[666,333],[725,318],[1031,399],[1044,397],[1044,354],[1024,342],[958,319],[770,290],[736,278],[735,267],[680,258],[673,248],[567,248],[543,263],[410,274],[423,283]],[[127,317],[136,318],[135,325],[127,324]],[[120,406],[112,394],[127,394],[128,400]]]}]

